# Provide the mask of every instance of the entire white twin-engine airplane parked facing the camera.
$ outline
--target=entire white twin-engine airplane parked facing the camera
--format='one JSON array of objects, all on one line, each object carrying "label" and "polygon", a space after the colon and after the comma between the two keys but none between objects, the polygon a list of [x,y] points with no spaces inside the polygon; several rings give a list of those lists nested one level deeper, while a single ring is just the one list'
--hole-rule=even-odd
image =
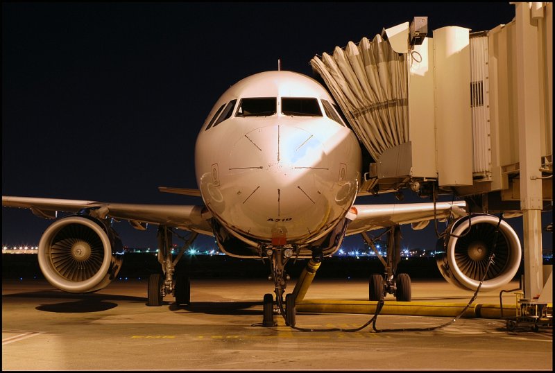
[{"label": "entire white twin-engine airplane parked facing the camera", "polygon": [[[273,314],[294,324],[298,288],[284,294],[289,259],[309,259],[317,268],[341,247],[343,238],[386,229],[384,272],[368,282],[368,299],[411,300],[411,282],[398,273],[400,225],[422,229],[431,220],[447,221],[439,247],[438,268],[454,286],[498,288],[520,266],[520,241],[502,218],[469,214],[465,201],[362,205],[355,203],[363,176],[359,140],[343,120],[325,87],[293,71],[264,71],[232,85],[216,101],[195,145],[198,189],[160,186],[160,191],[199,196],[199,205],[137,205],[2,196],[4,207],[31,209],[56,219],[38,245],[40,269],[49,283],[68,293],[89,293],[110,284],[123,258],[112,219],[137,229],[157,225],[162,273],[148,279],[148,306],[160,306],[173,294],[178,305],[190,303],[187,274],[176,271],[183,252],[198,234],[213,236],[231,257],[268,261],[275,298],[264,295],[264,326]],[[58,211],[69,215],[57,218]],[[176,257],[172,236],[190,232]],[[495,250],[495,261],[491,252]],[[377,250],[376,250],[377,252]],[[488,262],[493,265],[486,272]],[[285,300],[283,299],[285,295]]]}]

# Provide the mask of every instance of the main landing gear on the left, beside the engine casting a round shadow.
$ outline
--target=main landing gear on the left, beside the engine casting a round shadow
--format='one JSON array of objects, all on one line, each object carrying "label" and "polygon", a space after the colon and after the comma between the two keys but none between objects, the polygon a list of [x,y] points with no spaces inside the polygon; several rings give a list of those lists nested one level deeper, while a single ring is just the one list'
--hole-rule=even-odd
[{"label": "main landing gear on the left, beside the engine casting a round shadow", "polygon": [[171,293],[176,297],[176,305],[182,306],[191,303],[189,277],[184,271],[176,272],[176,264],[198,236],[198,233],[191,232],[191,236],[182,246],[175,259],[171,252],[171,234],[171,229],[168,229],[168,227],[164,225],[158,227],[158,261],[162,265],[164,275],[153,273],[148,277],[147,306],[162,306],[164,296]]}]

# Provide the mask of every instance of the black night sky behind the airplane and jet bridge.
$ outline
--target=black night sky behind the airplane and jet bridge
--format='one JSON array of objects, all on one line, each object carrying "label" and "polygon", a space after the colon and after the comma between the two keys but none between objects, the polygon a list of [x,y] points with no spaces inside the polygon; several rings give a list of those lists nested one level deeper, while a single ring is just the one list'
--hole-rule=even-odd
[{"label": "black night sky behind the airplane and jet bridge", "polygon": [[[514,8],[509,2],[3,2],[2,194],[200,205],[200,198],[157,187],[197,187],[196,135],[230,85],[277,69],[278,59],[282,69],[312,76],[314,55],[416,16],[428,17],[431,36],[443,26],[490,30],[511,21]],[[391,195],[371,201],[395,202]],[[51,223],[29,210],[2,208],[2,243],[37,245]],[[156,245],[155,227],[138,232],[121,222],[115,228],[124,245]],[[432,227],[402,232],[404,245],[433,248],[436,241]]]}]

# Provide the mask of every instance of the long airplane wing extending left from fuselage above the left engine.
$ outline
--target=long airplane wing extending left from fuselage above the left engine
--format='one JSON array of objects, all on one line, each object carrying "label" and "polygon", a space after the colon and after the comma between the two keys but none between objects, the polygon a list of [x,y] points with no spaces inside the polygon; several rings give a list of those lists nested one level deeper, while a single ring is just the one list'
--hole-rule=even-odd
[{"label": "long airplane wing extending left from fuselage above the left engine", "polygon": [[99,216],[129,220],[137,229],[142,223],[162,224],[213,236],[209,219],[212,214],[200,205],[136,205],[132,203],[62,200],[58,198],[31,198],[2,196],[2,206],[31,209],[40,218],[56,218],[58,211],[76,213],[82,209],[97,209]]}]

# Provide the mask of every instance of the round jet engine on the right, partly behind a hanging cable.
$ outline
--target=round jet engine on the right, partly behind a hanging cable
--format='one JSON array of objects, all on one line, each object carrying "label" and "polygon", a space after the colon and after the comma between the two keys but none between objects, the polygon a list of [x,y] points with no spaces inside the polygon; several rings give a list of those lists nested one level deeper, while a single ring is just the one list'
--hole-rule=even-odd
[{"label": "round jet engine on the right, partly behind a hanging cable", "polygon": [[443,245],[445,254],[437,259],[441,275],[465,290],[476,290],[486,274],[490,253],[495,257],[481,290],[495,290],[509,283],[518,271],[522,253],[514,229],[504,220],[488,214],[465,216],[450,227]]}]

